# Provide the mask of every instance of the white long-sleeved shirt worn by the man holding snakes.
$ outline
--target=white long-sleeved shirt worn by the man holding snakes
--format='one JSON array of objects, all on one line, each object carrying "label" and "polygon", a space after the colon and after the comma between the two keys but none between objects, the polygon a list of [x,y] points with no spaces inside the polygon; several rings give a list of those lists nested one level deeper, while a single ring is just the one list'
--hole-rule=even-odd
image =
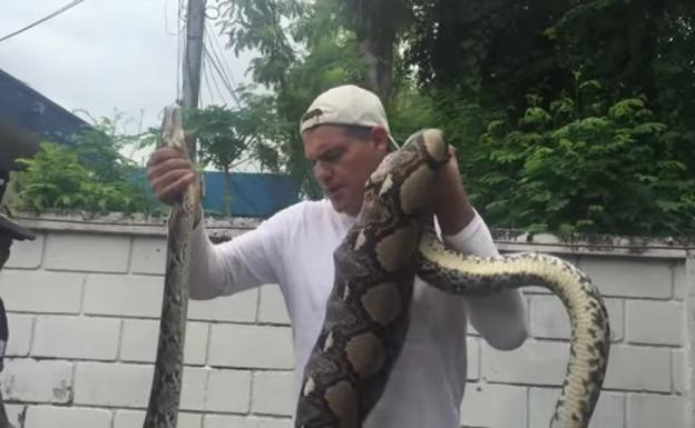
[{"label": "white long-sleeved shirt worn by the man holding snakes", "polygon": [[[354,220],[337,213],[324,199],[284,209],[255,230],[217,246],[209,242],[202,227],[194,235],[192,298],[207,299],[265,283],[280,285],[293,328],[295,399],[302,368],[321,330],[333,287],[333,250]],[[498,253],[479,216],[461,232],[444,239],[463,252]],[[508,300],[509,297],[506,296]],[[522,306],[516,291],[511,300],[512,307]],[[364,428],[460,426],[459,407],[467,376],[467,300],[415,278],[411,311],[402,352]],[[505,340],[503,336],[513,331],[506,326],[486,327],[484,324],[499,324],[490,319],[476,326],[482,327],[483,337],[501,335]],[[522,317],[519,322],[523,322]]]}]

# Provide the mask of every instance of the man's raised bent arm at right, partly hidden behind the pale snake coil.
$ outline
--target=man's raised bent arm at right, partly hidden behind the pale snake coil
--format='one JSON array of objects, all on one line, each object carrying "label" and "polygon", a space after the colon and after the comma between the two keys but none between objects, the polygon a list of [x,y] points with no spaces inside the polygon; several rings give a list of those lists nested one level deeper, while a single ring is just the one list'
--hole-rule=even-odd
[{"label": "man's raised bent arm at right, partly hidden behind the pale snake coil", "polygon": [[[434,213],[444,242],[451,248],[481,257],[499,255],[490,230],[468,200],[456,156],[439,178]],[[472,326],[490,346],[507,350],[526,340],[527,308],[519,290],[469,297],[467,308]]]}]

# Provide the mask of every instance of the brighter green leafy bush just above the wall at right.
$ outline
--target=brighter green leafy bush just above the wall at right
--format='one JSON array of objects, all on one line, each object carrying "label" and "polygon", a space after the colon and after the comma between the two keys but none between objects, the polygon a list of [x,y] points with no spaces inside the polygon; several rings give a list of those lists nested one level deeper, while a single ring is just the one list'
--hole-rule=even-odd
[{"label": "brighter green leafy bush just above the wall at right", "polygon": [[673,235],[695,231],[695,177],[683,136],[645,97],[605,102],[528,97],[518,121],[490,121],[464,160],[477,206],[495,225],[531,230]]}]

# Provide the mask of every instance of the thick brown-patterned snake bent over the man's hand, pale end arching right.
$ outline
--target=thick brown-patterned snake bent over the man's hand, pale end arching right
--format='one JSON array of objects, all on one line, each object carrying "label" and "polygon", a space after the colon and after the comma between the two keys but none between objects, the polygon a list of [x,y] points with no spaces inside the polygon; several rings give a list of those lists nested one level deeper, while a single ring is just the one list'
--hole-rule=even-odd
[{"label": "thick brown-patterned snake bent over the man's hand, pale end arching right", "polygon": [[[552,428],[586,428],[608,361],[608,316],[598,289],[567,261],[539,253],[493,258],[446,249],[429,195],[449,160],[438,130],[412,136],[370,177],[362,210],[334,253],[335,277],[295,415],[297,428],[359,428],[383,392],[409,322],[414,276],[442,290],[488,295],[542,286],[572,327]],[[423,427],[427,428],[427,427]]]}]

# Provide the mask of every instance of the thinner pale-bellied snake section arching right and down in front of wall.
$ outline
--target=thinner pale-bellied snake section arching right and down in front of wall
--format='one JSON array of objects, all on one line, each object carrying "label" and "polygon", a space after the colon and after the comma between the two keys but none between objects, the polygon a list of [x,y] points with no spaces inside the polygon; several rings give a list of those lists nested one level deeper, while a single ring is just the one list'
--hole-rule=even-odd
[{"label": "thinner pale-bellied snake section arching right and down in front of wall", "polygon": [[569,361],[551,428],[587,428],[604,382],[610,347],[606,306],[590,278],[549,255],[518,252],[481,258],[444,248],[431,227],[420,245],[418,273],[443,291],[489,295],[528,286],[547,288],[565,305],[571,326]]}]

